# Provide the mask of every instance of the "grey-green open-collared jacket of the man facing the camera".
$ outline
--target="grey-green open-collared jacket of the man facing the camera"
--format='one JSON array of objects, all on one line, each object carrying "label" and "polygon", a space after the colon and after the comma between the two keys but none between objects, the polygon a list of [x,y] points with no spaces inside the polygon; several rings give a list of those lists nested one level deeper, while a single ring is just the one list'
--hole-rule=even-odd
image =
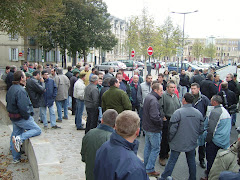
[{"label": "grey-green open-collared jacket of the man facing the camera", "polygon": [[161,115],[170,118],[172,114],[181,107],[181,103],[176,94],[171,96],[167,91],[162,95],[159,100]]}]

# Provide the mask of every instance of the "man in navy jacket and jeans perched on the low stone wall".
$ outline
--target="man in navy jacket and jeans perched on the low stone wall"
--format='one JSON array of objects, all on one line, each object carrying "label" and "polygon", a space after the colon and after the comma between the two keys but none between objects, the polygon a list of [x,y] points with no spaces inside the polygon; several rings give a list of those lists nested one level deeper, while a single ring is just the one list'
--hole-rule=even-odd
[{"label": "man in navy jacket and jeans perched on the low stone wall", "polygon": [[16,71],[13,74],[13,85],[6,95],[7,111],[13,124],[10,140],[13,163],[20,162],[22,143],[41,134],[41,128],[32,117],[33,106],[23,86],[26,86],[26,76],[23,71]]}]

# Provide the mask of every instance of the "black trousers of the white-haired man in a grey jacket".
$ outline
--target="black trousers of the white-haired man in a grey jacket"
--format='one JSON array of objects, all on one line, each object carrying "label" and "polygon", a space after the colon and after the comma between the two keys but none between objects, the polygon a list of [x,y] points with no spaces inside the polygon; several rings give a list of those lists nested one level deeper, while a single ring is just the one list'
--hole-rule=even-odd
[{"label": "black trousers of the white-haired man in a grey jacket", "polygon": [[86,108],[87,110],[87,124],[85,134],[90,129],[96,128],[98,123],[98,108]]}]

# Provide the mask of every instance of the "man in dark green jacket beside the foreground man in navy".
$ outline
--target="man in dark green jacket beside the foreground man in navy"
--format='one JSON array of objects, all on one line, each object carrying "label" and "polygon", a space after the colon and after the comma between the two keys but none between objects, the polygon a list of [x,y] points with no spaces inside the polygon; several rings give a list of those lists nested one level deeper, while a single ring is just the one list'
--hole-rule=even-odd
[{"label": "man in dark green jacket beside the foreground man in navy", "polygon": [[118,116],[117,111],[108,109],[103,113],[101,124],[91,129],[82,140],[82,161],[86,163],[86,180],[94,180],[94,164],[97,150],[103,143],[110,139],[114,131],[115,121]]}]

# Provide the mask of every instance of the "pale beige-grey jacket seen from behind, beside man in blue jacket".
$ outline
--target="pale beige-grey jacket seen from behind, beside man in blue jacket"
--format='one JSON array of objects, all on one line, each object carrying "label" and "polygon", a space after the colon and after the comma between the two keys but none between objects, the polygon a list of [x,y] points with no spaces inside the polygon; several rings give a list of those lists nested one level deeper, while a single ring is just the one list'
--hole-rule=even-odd
[{"label": "pale beige-grey jacket seen from behind, beside man in blue jacket", "polygon": [[68,98],[68,89],[70,87],[70,81],[64,74],[56,76],[55,83],[57,85],[58,93],[56,101],[63,101]]}]

